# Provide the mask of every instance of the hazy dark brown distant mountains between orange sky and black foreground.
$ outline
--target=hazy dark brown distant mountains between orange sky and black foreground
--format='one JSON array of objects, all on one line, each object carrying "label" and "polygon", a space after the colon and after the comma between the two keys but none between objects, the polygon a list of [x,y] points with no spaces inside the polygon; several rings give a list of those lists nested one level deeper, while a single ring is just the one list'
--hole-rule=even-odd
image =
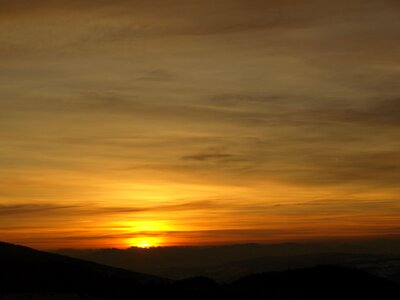
[{"label": "hazy dark brown distant mountains between orange sky and black foreground", "polygon": [[381,242],[382,249],[378,243],[374,245],[372,249],[379,254],[365,254],[371,251],[370,244],[242,244],[61,250],[59,253],[177,280],[206,276],[218,282],[229,282],[253,273],[335,265],[365,270],[400,283],[400,255],[395,254],[393,243],[392,247],[387,247]]}]

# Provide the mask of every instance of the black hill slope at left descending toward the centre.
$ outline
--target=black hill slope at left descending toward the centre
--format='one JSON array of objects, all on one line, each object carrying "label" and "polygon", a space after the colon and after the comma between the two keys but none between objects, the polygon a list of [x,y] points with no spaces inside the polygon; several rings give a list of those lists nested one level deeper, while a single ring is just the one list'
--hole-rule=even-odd
[{"label": "black hill slope at left descending toward the centre", "polygon": [[3,242],[0,243],[0,267],[2,295],[47,292],[112,299],[169,282],[156,276]]}]

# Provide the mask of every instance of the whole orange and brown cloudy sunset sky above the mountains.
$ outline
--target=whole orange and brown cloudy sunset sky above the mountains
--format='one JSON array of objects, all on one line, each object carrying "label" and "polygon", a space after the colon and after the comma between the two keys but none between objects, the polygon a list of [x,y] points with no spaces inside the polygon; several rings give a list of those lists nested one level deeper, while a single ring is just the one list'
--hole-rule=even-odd
[{"label": "whole orange and brown cloudy sunset sky above the mountains", "polygon": [[398,0],[0,0],[0,240],[400,235]]}]

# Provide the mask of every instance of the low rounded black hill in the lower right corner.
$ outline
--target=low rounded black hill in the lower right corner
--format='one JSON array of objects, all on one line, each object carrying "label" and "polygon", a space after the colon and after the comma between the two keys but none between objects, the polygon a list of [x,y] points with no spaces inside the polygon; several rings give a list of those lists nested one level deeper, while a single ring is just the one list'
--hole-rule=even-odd
[{"label": "low rounded black hill in the lower right corner", "polygon": [[225,287],[233,299],[399,299],[399,286],[361,270],[317,266],[250,275]]}]

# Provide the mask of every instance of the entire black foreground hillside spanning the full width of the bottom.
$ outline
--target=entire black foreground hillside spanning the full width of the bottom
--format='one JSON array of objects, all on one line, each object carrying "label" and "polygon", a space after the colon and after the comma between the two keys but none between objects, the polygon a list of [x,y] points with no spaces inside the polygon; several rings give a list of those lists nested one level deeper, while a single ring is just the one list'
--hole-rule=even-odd
[{"label": "entire black foreground hillside spanning the full width of the bottom", "polygon": [[180,281],[0,244],[1,300],[79,299],[400,299],[399,286],[343,267],[250,275],[218,285],[205,278]]}]

